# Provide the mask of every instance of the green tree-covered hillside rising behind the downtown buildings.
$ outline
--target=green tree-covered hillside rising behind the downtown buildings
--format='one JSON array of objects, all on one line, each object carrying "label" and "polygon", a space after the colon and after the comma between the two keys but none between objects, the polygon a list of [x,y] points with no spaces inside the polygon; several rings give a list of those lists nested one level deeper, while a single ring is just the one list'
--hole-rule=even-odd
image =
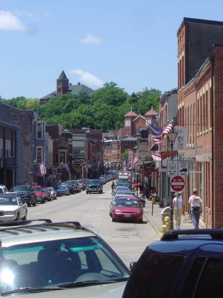
[{"label": "green tree-covered hillside rising behind the downtown buildings", "polygon": [[47,124],[62,123],[64,128],[89,127],[104,132],[116,130],[124,125],[124,115],[132,110],[144,115],[153,109],[158,112],[161,91],[147,87],[142,92],[129,95],[116,83],[105,83],[92,96],[80,92],[52,98],[45,106],[37,98],[16,97],[1,99],[2,102],[19,109],[33,109]]}]

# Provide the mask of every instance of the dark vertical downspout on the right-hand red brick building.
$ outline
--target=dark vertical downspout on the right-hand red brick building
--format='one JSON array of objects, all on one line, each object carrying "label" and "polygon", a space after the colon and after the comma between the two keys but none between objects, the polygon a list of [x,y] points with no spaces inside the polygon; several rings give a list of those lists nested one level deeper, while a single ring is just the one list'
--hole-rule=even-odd
[{"label": "dark vertical downspout on the right-hand red brick building", "polygon": [[211,104],[212,104],[212,228],[214,228],[214,56],[211,57]]}]

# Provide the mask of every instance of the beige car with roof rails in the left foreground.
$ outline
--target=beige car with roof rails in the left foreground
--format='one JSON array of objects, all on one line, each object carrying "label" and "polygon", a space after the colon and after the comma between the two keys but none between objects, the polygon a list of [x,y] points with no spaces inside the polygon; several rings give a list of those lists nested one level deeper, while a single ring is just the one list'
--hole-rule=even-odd
[{"label": "beige car with roof rails in the left foreground", "polygon": [[78,222],[1,227],[0,241],[1,297],[119,298],[130,275],[111,247]]}]

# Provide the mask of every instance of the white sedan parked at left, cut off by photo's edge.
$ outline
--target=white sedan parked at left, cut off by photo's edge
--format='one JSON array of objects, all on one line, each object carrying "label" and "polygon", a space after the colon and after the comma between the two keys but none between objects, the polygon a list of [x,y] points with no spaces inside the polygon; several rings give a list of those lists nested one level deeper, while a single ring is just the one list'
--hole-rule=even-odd
[{"label": "white sedan parked at left, cut off by photo's edge", "polygon": [[0,195],[0,222],[26,221],[27,212],[27,203],[19,195]]}]

